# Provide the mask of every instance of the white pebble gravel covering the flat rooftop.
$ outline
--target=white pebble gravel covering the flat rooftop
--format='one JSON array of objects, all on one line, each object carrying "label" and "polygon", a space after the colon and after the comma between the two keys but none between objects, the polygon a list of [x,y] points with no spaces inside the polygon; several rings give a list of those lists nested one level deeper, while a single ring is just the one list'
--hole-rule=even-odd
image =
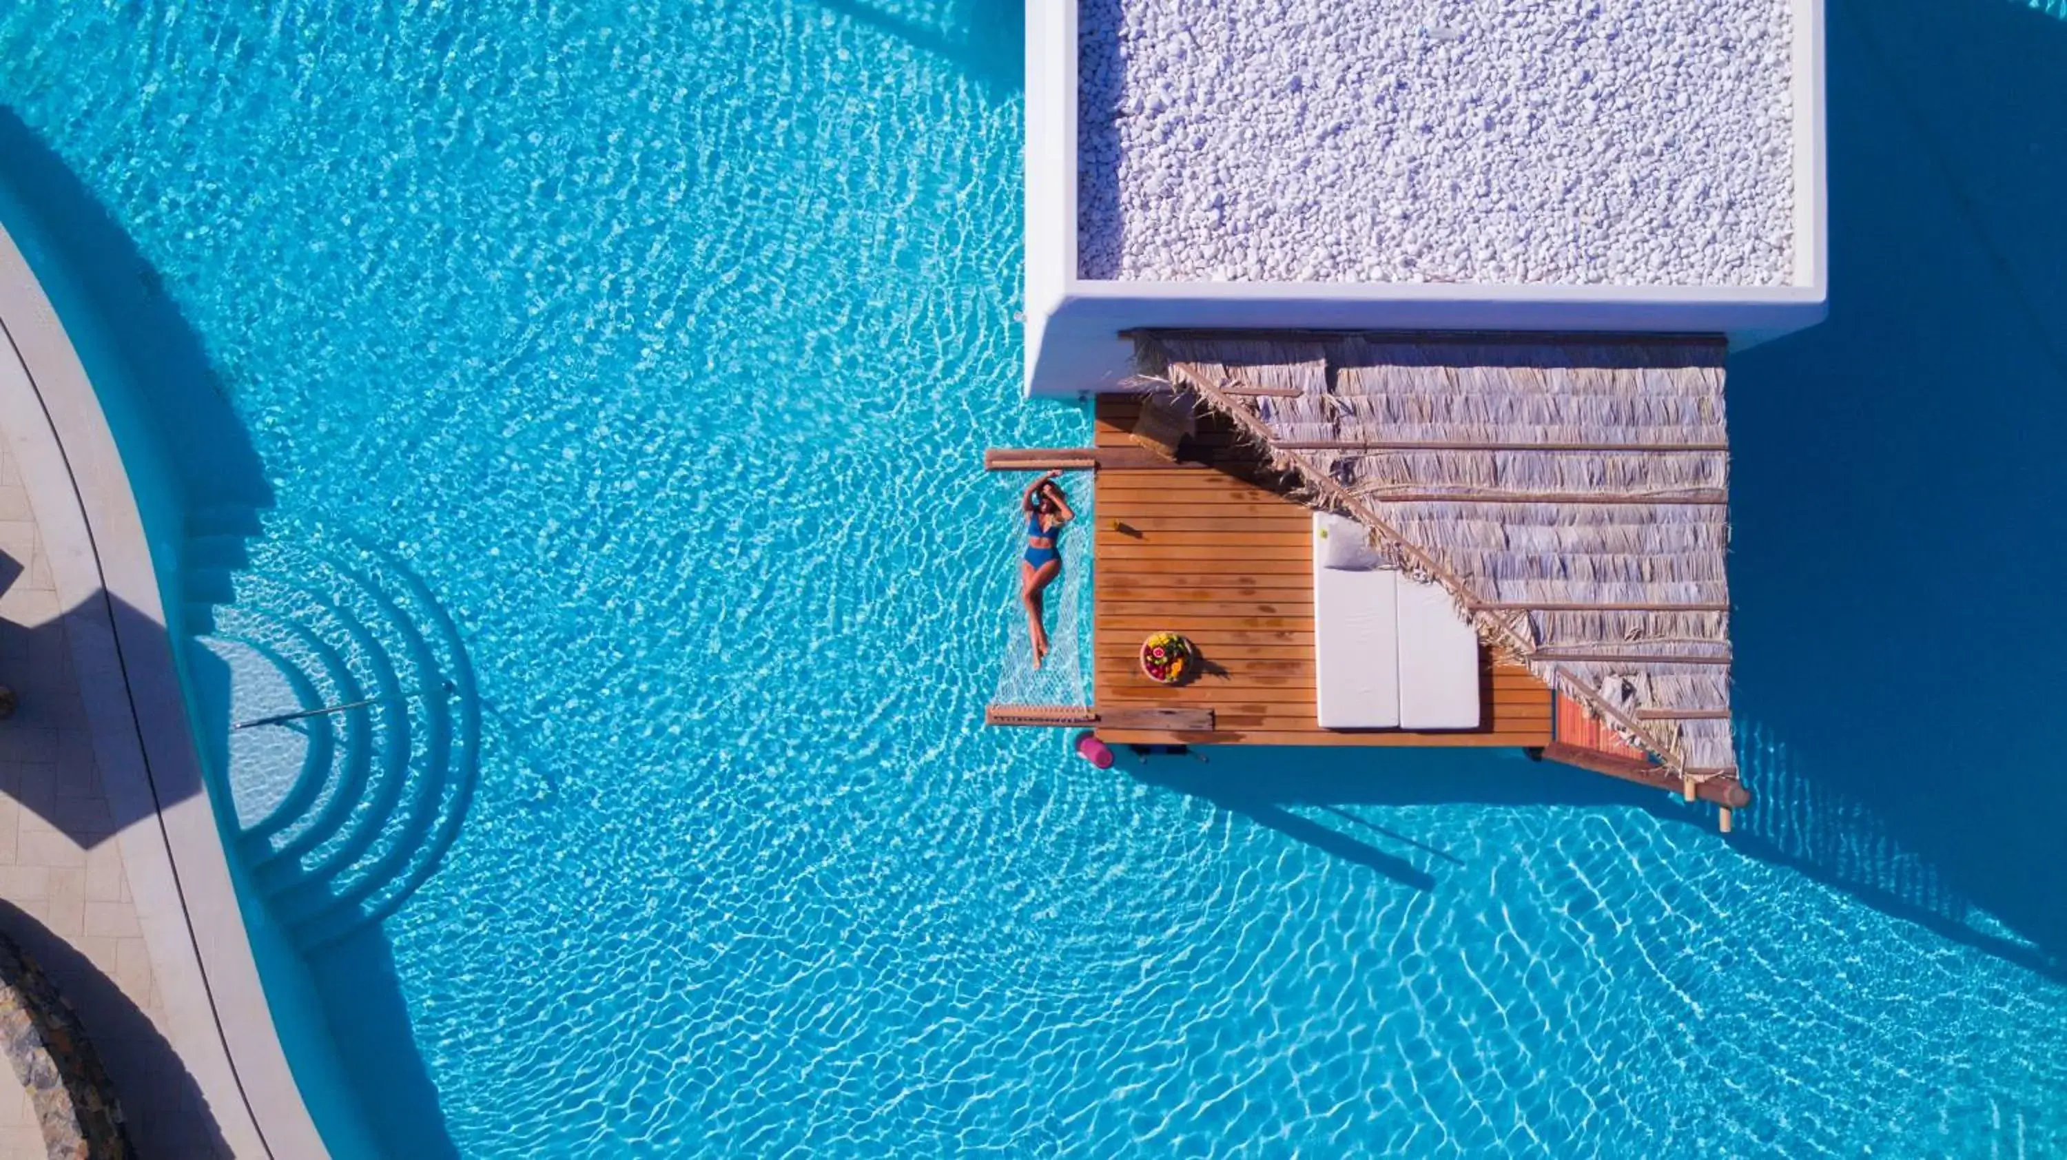
[{"label": "white pebble gravel covering the flat rooftop", "polygon": [[1792,277],[1786,0],[1079,12],[1083,277]]}]

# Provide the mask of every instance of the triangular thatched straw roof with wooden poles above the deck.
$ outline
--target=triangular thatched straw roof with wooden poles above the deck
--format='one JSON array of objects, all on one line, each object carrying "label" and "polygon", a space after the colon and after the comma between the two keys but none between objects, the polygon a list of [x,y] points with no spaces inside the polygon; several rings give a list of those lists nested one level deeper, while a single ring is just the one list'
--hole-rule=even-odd
[{"label": "triangular thatched straw roof with wooden poles above the deck", "polygon": [[1734,777],[1722,339],[1139,333],[1494,649]]}]

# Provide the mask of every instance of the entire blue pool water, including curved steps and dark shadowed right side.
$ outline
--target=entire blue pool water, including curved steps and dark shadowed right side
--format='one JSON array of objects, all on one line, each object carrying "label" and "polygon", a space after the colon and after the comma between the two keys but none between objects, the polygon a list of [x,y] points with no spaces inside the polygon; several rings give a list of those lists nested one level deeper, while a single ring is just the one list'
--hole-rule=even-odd
[{"label": "entire blue pool water, including curved steps and dark shadowed right side", "polygon": [[[143,360],[198,401],[153,533],[225,827],[335,1040],[327,1125],[482,1158],[2067,1150],[2067,631],[1984,612],[2059,562],[2067,25],[1831,10],[1833,320],[1732,370],[1761,802],[1724,840],[1515,755],[1098,773],[978,728],[1017,616],[980,451],[1087,432],[1017,393],[1017,21],[0,12],[6,176],[103,207],[134,254],[81,261],[196,356]],[[387,701],[225,730],[353,689]]]}]

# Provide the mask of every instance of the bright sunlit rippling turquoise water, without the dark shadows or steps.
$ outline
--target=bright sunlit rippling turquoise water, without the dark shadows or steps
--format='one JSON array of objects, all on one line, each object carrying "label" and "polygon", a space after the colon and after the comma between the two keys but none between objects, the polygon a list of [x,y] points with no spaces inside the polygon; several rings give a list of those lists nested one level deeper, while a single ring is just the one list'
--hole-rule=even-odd
[{"label": "bright sunlit rippling turquoise water, without the dark shadows or steps", "polygon": [[459,622],[480,788],[384,933],[461,1154],[2067,1150],[2059,982],[1676,806],[976,726],[982,447],[1087,436],[1019,399],[984,4],[147,8],[0,10],[0,99],[165,271],[281,517]]}]

